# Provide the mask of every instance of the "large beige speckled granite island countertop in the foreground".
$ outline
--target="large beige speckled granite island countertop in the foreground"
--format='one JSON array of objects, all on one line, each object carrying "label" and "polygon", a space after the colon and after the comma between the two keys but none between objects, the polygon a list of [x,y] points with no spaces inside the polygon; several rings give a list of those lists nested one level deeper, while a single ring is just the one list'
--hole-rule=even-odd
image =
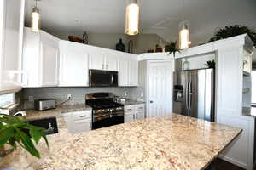
[{"label": "large beige speckled granite island countertop in the foreground", "polygon": [[[62,117],[63,118],[63,117]],[[61,116],[57,116],[61,119]],[[49,135],[38,160],[18,149],[0,162],[15,170],[201,170],[241,129],[171,114],[71,134]]]}]

